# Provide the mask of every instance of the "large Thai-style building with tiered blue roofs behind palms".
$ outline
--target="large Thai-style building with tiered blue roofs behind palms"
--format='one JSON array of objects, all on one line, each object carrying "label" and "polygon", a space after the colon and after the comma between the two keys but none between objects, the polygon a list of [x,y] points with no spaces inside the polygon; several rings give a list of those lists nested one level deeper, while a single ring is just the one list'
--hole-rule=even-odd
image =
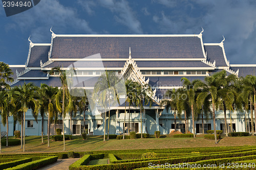
[{"label": "large Thai-style building with tiered blue roofs behind palms", "polygon": [[[59,77],[49,74],[51,68],[61,66],[63,69],[68,69],[72,63],[84,61],[82,65],[76,66],[75,77],[79,79],[97,80],[100,73],[107,69],[115,71],[117,75],[122,75],[124,79],[150,84],[154,90],[154,105],[144,107],[142,131],[154,134],[156,130],[160,130],[161,134],[168,134],[170,130],[174,129],[174,111],[162,110],[159,101],[167,89],[177,89],[182,86],[182,77],[191,81],[204,80],[205,76],[223,69],[227,74],[239,77],[254,75],[256,65],[229,63],[223,45],[225,39],[220,43],[204,43],[202,33],[203,31],[194,35],[57,35],[52,32],[51,43],[33,43],[29,40],[26,65],[10,65],[15,79],[11,86],[32,82],[36,86],[46,83],[50,86],[60,87]],[[101,61],[87,58],[95,54],[100,54]],[[103,67],[100,67],[101,62]],[[85,117],[86,129],[91,134],[103,135],[102,116],[93,115],[90,106],[88,108]],[[250,112],[246,113],[246,116],[249,123]],[[83,114],[78,114],[72,119],[71,132],[70,117],[66,116],[65,133],[80,134],[83,129]],[[193,132],[190,119],[191,117],[188,120],[189,131]],[[126,125],[124,126],[124,104],[112,108],[110,134],[121,134],[123,128],[127,127],[127,121],[126,116]],[[245,113],[237,111],[229,113],[227,111],[229,125],[230,121],[234,131],[245,131]],[[9,135],[13,134],[14,129],[21,129],[20,125],[13,125],[12,117],[10,117],[9,124]],[[132,131],[141,132],[138,107],[131,107],[130,124]],[[223,130],[224,114],[222,110],[216,112],[216,124],[217,130]],[[26,113],[25,125],[27,135],[41,135],[41,118],[38,116],[36,123],[30,110]],[[5,127],[1,126],[4,131]],[[53,127],[54,125],[51,126],[52,134],[54,133]],[[212,119],[204,120],[205,131],[211,130],[213,127]],[[57,128],[62,128],[61,118]],[[177,119],[177,129],[181,132],[185,131],[184,119]],[[47,134],[46,118],[44,133],[44,135]],[[196,133],[202,133],[202,120],[196,121]]]}]

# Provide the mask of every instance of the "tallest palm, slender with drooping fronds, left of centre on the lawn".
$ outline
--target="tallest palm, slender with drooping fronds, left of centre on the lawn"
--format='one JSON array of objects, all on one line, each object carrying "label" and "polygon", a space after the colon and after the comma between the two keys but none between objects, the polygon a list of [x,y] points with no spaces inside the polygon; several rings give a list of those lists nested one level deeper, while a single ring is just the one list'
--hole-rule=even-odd
[{"label": "tallest palm, slender with drooping fronds, left of centre on the lawn", "polygon": [[[61,87],[58,90],[55,96],[56,107],[59,112],[62,112],[62,129],[63,129],[63,151],[66,151],[65,147],[65,131],[64,131],[64,118],[67,114],[67,106],[69,103],[69,88],[68,88],[68,80],[67,74],[65,70],[62,70],[60,66],[53,67],[50,71],[50,74],[55,73],[55,75],[59,76]],[[60,106],[60,96],[62,95],[62,107]]]}]

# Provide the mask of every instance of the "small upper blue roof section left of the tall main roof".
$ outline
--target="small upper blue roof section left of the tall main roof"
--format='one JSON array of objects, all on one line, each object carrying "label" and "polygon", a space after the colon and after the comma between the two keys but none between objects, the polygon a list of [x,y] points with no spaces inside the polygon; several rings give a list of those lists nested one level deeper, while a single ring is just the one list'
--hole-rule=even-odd
[{"label": "small upper blue roof section left of the tall main roof", "polygon": [[50,51],[50,45],[33,46],[31,48],[28,67],[40,67],[40,60],[42,60],[42,63],[47,62],[49,51]]}]

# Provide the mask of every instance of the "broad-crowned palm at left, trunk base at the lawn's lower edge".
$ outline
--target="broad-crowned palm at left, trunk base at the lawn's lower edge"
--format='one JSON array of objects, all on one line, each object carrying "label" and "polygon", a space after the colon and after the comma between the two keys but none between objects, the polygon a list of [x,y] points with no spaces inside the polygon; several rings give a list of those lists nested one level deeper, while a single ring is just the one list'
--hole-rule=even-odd
[{"label": "broad-crowned palm at left, trunk base at the lawn's lower edge", "polygon": [[23,112],[23,152],[25,152],[25,116],[29,108],[32,109],[35,118],[39,112],[38,88],[32,83],[24,83],[23,86],[14,87],[12,93],[12,100],[20,102],[21,107],[18,111]]}]

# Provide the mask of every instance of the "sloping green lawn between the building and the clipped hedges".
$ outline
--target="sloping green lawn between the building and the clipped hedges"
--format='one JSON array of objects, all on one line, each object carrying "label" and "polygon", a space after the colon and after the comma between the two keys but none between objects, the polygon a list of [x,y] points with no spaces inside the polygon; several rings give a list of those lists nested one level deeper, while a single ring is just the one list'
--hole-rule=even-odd
[{"label": "sloping green lawn between the building and the clipped hedges", "polygon": [[[14,137],[9,137],[14,138]],[[165,148],[195,148],[195,147],[225,147],[239,145],[256,145],[256,136],[246,137],[225,137],[218,140],[204,139],[198,135],[197,138],[148,138],[148,139],[110,139],[103,142],[102,136],[88,136],[82,140],[82,136],[74,136],[73,140],[66,140],[66,151],[99,151],[99,150],[133,150],[133,149],[165,149]],[[50,140],[50,148],[47,147],[47,136],[44,136],[44,143],[41,143],[41,136],[25,137],[26,152],[61,152],[63,141]],[[2,146],[4,153],[23,153],[20,145],[5,147]]]}]

